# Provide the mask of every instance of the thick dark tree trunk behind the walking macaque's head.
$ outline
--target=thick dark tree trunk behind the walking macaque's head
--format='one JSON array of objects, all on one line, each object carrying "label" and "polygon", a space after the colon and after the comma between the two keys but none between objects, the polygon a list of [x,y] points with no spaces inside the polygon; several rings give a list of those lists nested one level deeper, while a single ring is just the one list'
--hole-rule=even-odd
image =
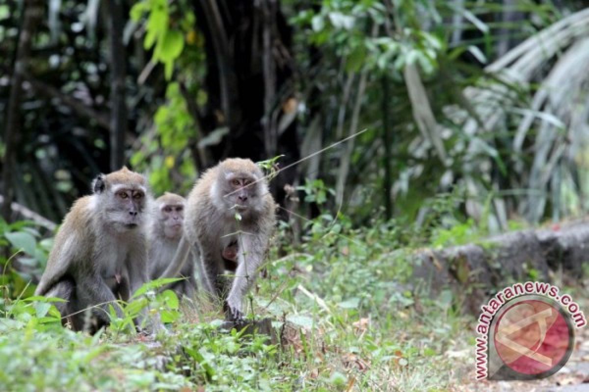
[{"label": "thick dark tree trunk behind the walking macaque's head", "polygon": [[[227,126],[229,134],[210,149],[211,162],[237,156],[262,160],[283,154],[282,166],[299,159],[296,120],[282,128],[294,98],[292,31],[275,0],[194,0],[204,35],[209,100],[198,119],[204,135]],[[296,102],[296,100],[295,100]],[[280,202],[297,169],[271,184]]]}]

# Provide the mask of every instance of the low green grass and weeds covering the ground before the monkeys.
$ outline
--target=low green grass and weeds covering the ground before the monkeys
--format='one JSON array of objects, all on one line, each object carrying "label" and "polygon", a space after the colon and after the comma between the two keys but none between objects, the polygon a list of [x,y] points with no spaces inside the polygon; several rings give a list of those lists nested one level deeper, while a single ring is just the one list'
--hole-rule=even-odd
[{"label": "low green grass and weeds covering the ground before the monkeys", "polygon": [[[317,222],[297,245],[287,230],[277,235],[267,279],[252,290],[249,316],[275,320],[282,342],[220,331],[218,306],[178,306],[171,292],[154,297],[151,286],[125,319],[95,336],[62,328],[49,303],[6,295],[0,390],[452,388],[463,376],[456,369],[469,366],[474,319],[459,316],[459,299],[415,294],[411,253],[398,250],[408,234],[390,223],[353,230],[343,217]],[[169,321],[155,337],[129,328],[137,304],[148,303]]]}]

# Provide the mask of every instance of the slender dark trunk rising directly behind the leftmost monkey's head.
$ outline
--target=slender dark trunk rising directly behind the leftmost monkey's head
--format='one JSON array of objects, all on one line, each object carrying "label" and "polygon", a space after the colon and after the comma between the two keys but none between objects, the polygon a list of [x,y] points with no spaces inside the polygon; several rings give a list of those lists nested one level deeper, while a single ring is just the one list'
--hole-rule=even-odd
[{"label": "slender dark trunk rising directly behind the leftmost monkey's head", "polygon": [[107,1],[107,27],[110,45],[111,65],[111,171],[118,170],[125,163],[125,133],[127,132],[127,102],[125,91],[125,59],[127,58],[123,45],[122,0]]}]

